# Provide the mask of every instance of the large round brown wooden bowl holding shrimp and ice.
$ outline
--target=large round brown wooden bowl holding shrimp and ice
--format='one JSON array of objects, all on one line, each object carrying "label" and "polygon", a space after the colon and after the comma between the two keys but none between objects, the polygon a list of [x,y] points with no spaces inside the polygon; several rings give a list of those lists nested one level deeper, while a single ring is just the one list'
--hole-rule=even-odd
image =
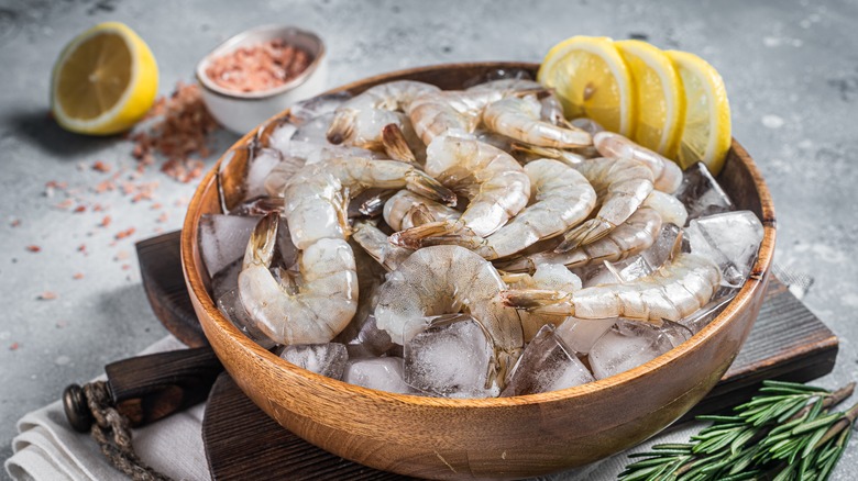
[{"label": "large round brown wooden bowl holding shrimp and ice", "polygon": [[[398,79],[444,89],[499,68],[536,64],[454,64],[402,70],[336,89],[358,93]],[[284,112],[282,115],[285,115]],[[256,131],[231,150],[248,145]],[[522,478],[582,466],[647,439],[697,403],[724,374],[760,310],[774,249],[774,211],[750,156],[733,142],[718,180],[739,209],[765,226],[759,259],[726,310],[690,340],[620,374],[561,391],[501,399],[436,399],[374,391],[297,368],[254,344],[218,311],[200,258],[200,215],[220,213],[217,177],[227,153],[197,189],[182,233],[194,307],[223,366],[280,425],[343,458],[421,478]],[[229,179],[224,170],[224,181]]]}]

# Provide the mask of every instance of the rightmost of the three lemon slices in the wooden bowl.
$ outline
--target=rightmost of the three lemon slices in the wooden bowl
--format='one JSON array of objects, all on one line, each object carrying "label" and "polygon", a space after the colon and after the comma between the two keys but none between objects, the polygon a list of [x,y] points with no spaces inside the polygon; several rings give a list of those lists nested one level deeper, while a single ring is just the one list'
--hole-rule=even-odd
[{"label": "rightmost of the three lemon slices in the wooden bowl", "polygon": [[664,53],[676,68],[685,93],[685,121],[676,160],[683,169],[702,161],[721,171],[730,148],[730,105],[718,71],[696,55]]}]

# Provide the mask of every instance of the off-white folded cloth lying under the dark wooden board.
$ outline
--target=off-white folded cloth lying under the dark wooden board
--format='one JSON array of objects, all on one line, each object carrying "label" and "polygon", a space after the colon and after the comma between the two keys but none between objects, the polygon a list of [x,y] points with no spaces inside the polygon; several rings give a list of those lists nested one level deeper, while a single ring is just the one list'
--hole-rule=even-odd
[{"label": "off-white folded cloth lying under the dark wooden board", "polygon": [[[167,336],[141,354],[182,349]],[[134,450],[157,471],[176,480],[208,480],[210,474],[202,447],[205,405],[176,413],[140,429],[133,429]],[[626,452],[586,467],[540,478],[546,481],[612,480],[629,462],[631,452],[646,451],[658,443],[684,443],[703,423],[683,424]],[[123,480],[88,434],[72,429],[59,401],[24,415],[12,439],[14,455],[6,470],[14,480]]]}]

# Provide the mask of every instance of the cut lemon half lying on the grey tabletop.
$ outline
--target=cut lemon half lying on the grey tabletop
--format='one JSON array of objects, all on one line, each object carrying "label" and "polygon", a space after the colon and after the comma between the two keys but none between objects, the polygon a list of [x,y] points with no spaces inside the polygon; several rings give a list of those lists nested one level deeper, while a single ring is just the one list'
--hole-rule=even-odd
[{"label": "cut lemon half lying on the grey tabletop", "polygon": [[51,110],[72,132],[116,134],[148,111],[157,89],[158,68],[148,46],[122,23],[99,23],[59,54]]}]

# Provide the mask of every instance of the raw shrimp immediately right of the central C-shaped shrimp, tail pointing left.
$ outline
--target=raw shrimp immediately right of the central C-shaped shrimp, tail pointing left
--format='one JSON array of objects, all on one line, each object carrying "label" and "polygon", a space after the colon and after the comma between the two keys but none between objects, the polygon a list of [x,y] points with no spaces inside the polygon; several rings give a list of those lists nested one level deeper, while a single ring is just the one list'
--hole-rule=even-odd
[{"label": "raw shrimp immediately right of the central C-shaped shrimp, tail pointing left", "polygon": [[[586,219],[596,203],[596,192],[575,169],[550,159],[535,160],[525,166],[535,202],[488,237],[462,232],[438,232],[420,244],[457,244],[485,259],[497,259],[524,250],[538,240],[561,234]],[[444,227],[457,228],[453,223]],[[440,230],[439,230],[440,231]]]}]

